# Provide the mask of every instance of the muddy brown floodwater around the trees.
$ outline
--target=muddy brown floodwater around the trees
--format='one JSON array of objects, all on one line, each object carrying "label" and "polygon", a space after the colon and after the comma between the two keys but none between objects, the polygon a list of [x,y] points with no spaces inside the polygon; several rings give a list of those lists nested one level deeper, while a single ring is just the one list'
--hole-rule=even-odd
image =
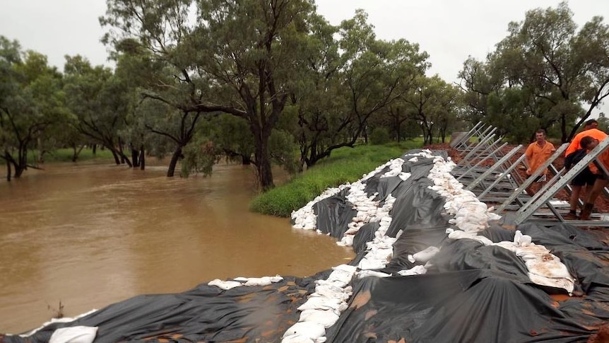
[{"label": "muddy brown floodwater around the trees", "polygon": [[[354,257],[333,238],[248,211],[253,172],[166,178],[115,165],[53,164],[0,180],[0,332],[212,279],[308,276]],[[5,170],[0,168],[4,178]]]}]

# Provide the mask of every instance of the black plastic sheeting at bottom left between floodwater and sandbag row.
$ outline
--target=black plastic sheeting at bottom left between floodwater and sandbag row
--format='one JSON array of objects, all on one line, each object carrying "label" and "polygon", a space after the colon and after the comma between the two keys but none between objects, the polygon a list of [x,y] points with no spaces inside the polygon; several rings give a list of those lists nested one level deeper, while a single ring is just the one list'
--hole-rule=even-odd
[{"label": "black plastic sheeting at bottom left between floodwater and sandbag row", "polygon": [[[269,286],[240,286],[223,291],[201,284],[175,294],[136,296],[73,321],[49,325],[32,337],[0,336],[0,342],[49,342],[59,327],[97,326],[95,342],[280,342],[298,321],[298,306],[314,292],[315,277],[286,277]],[[167,341],[168,340],[168,341]]]}]

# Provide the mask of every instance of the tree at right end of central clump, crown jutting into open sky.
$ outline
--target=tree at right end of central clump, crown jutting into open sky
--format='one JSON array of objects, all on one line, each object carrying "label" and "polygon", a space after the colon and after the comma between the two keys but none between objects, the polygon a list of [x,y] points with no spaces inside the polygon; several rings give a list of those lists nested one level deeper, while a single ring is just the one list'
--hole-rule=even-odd
[{"label": "tree at right end of central clump, crown jutting into open sky", "polygon": [[348,96],[341,125],[347,127],[349,140],[342,146],[353,146],[369,118],[398,100],[425,74],[429,55],[407,40],[377,40],[362,10],[341,23],[339,35],[342,87]]}]

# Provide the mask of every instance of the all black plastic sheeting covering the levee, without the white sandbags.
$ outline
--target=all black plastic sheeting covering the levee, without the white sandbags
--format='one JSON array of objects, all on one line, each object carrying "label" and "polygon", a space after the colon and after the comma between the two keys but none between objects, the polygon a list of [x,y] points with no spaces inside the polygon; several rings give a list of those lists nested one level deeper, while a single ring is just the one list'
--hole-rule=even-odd
[{"label": "all black plastic sheeting covering the levee, without the white sandbags", "polygon": [[[428,188],[431,168],[431,159],[418,157],[403,165],[403,171],[412,173],[408,180],[380,178],[385,168],[365,188],[380,203],[389,194],[396,198],[386,234],[401,235],[382,272],[414,267],[419,263],[410,262],[408,255],[433,245],[441,250],[427,265],[427,274],[354,279],[349,307],[326,330],[327,342],[586,342],[609,319],[609,247],[601,236],[573,226],[519,226],[534,243],[560,257],[577,279],[576,296],[558,297],[564,290],[532,284],[513,252],[447,238],[451,218],[444,214],[444,199]],[[319,230],[337,239],[356,214],[347,194],[344,190],[314,206]],[[357,256],[350,264],[365,256],[366,243],[378,229],[379,223],[360,228],[353,243]],[[498,224],[480,234],[494,242],[514,239],[514,231]],[[47,342],[55,328],[73,325],[99,327],[95,342],[280,342],[300,316],[297,307],[314,291],[314,279],[325,279],[329,272],[285,277],[265,287],[222,291],[201,284],[184,293],[138,296],[48,327],[27,342]],[[26,339],[0,337],[0,342]]]}]

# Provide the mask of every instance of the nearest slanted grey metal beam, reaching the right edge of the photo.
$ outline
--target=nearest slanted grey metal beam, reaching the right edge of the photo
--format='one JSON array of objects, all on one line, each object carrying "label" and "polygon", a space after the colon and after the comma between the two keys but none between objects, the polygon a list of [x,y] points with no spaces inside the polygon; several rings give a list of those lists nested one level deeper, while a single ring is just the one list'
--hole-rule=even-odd
[{"label": "nearest slanted grey metal beam, reaching the right edge of the photo", "polygon": [[[563,144],[563,146],[564,145],[568,144]],[[545,190],[545,192],[540,192],[540,196],[535,200],[535,202],[530,204],[525,211],[519,213],[519,215],[514,220],[514,223],[518,225],[526,221],[526,219],[528,219],[528,217],[535,213],[535,211],[537,211],[539,207],[545,204],[545,202],[548,202],[548,200],[553,197],[556,192],[558,192],[562,187],[564,187],[567,182],[575,178],[575,176],[577,176],[577,174],[579,174],[581,170],[586,167],[586,165],[588,165],[592,161],[595,161],[596,158],[598,158],[598,156],[601,155],[601,153],[603,153],[603,151],[605,151],[608,146],[609,139],[603,139],[603,141],[601,141],[601,143],[598,144],[596,148],[592,149],[592,151],[590,151],[586,156],[584,156],[584,158],[582,158],[581,161],[579,161],[576,165],[573,166],[573,168],[571,168],[567,173],[565,173],[564,176],[562,176],[562,178],[560,178],[558,182],[555,182],[555,184],[549,187],[548,190]],[[555,176],[555,178],[557,178],[557,176]]]}]

